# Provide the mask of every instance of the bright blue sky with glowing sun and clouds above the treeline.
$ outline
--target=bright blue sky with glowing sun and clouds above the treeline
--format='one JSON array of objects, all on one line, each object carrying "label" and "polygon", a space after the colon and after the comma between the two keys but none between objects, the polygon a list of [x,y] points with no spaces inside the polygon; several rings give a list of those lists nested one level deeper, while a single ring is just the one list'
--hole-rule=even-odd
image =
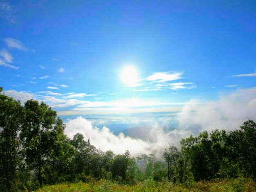
[{"label": "bright blue sky with glowing sun and clouds above the treeline", "polygon": [[256,2],[0,0],[0,86],[47,103],[70,137],[74,120],[174,143],[234,130],[256,120]]}]

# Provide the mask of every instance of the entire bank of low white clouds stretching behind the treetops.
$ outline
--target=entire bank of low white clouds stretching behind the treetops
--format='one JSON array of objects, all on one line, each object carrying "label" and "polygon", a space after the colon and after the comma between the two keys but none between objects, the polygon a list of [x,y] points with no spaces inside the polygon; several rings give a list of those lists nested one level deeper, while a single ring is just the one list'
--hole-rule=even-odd
[{"label": "entire bank of low white clouds stretching behind the treetops", "polygon": [[181,138],[191,134],[215,129],[229,132],[239,129],[248,119],[255,121],[256,87],[220,94],[218,100],[189,100],[174,118],[178,121],[177,127],[166,132],[162,125],[155,123],[148,129],[148,140],[124,136],[123,133],[115,135],[108,127],[99,129],[81,116],[66,123],[65,133],[72,138],[79,132],[102,151],[112,150],[119,154],[129,150],[132,156],[154,153],[161,158],[168,143],[179,147]]}]

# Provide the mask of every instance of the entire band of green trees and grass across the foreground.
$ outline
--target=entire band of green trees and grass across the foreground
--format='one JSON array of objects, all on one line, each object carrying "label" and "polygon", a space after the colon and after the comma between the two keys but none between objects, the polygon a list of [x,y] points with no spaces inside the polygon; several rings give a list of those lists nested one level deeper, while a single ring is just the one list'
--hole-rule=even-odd
[{"label": "entire band of green trees and grass across the foreground", "polygon": [[[256,123],[206,131],[165,149],[163,159],[102,152],[45,103],[24,106],[0,88],[0,191],[254,191]],[[58,184],[60,183],[60,184]],[[73,184],[71,184],[73,183]],[[57,184],[57,185],[56,185]],[[50,186],[43,186],[50,185]]]}]

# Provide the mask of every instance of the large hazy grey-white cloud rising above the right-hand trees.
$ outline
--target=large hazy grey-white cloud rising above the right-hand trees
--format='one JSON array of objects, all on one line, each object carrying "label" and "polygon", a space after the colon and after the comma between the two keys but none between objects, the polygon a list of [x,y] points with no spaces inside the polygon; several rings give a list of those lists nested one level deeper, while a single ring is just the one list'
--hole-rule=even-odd
[{"label": "large hazy grey-white cloud rising above the right-hand trees", "polygon": [[256,120],[256,87],[220,94],[218,100],[190,100],[177,119],[181,129],[199,131],[238,129],[248,119]]}]

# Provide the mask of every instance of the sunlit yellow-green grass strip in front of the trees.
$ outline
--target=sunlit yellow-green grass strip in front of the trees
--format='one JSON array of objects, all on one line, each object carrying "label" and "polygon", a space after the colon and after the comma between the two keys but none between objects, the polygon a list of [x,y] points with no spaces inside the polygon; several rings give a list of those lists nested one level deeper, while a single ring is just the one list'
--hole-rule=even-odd
[{"label": "sunlit yellow-green grass strip in front of the trees", "polygon": [[256,183],[251,179],[214,180],[173,184],[147,180],[136,185],[119,185],[105,180],[90,183],[61,183],[46,185],[36,192],[254,192]]}]

